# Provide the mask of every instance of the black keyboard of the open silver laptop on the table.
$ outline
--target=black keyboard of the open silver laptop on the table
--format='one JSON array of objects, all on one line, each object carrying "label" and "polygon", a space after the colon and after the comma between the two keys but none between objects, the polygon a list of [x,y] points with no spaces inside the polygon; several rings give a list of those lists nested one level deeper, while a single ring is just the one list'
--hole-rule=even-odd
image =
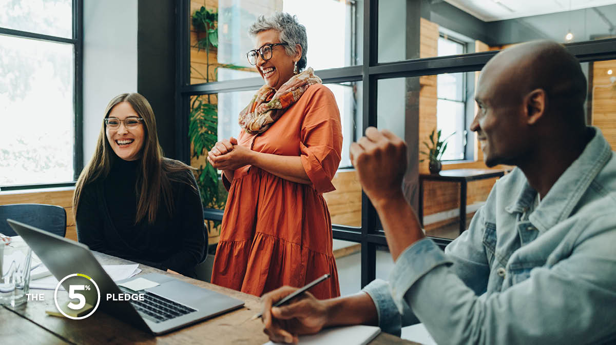
[{"label": "black keyboard of the open silver laptop on the table", "polygon": [[[126,293],[134,293],[134,291],[128,288],[120,287],[120,289]],[[148,291],[144,291],[144,295],[143,301],[131,300],[131,304],[144,319],[148,319],[152,322],[163,322],[197,311],[197,309],[171,301],[171,299],[166,299]]]}]

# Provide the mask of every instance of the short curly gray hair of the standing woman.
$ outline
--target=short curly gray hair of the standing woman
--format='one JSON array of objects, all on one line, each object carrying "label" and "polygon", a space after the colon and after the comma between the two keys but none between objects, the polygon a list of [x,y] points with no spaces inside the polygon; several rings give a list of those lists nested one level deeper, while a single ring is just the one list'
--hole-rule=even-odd
[{"label": "short curly gray hair of the standing woman", "polygon": [[308,38],[306,36],[306,26],[298,22],[297,16],[291,17],[288,13],[276,12],[265,17],[261,15],[257,21],[248,29],[251,36],[267,30],[276,30],[280,33],[280,42],[285,43],[286,55],[293,55],[297,52],[295,45],[302,47],[302,56],[298,61],[298,70],[306,68],[306,53],[308,52]]}]

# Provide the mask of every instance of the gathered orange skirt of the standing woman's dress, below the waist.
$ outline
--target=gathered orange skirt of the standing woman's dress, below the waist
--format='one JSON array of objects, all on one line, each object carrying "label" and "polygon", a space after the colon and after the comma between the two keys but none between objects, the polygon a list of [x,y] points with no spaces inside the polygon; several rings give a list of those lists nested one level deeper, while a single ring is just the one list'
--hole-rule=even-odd
[{"label": "gathered orange skirt of the standing woman's dress, below the waist", "polygon": [[[340,295],[325,199],[308,184],[293,183],[256,167],[238,172],[225,207],[212,282],[261,296],[284,285],[312,288],[317,298]],[[256,195],[256,198],[239,196]]]}]

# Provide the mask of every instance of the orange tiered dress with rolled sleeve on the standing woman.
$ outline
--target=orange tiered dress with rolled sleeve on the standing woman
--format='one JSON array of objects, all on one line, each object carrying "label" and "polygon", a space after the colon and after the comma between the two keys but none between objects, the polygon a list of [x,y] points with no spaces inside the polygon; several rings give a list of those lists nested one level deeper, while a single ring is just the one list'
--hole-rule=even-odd
[{"label": "orange tiered dress with rolled sleeve on the standing woman", "polygon": [[230,183],[223,176],[229,197],[212,282],[261,296],[283,285],[302,287],[329,273],[331,278],[310,292],[320,299],[339,296],[330,213],[322,195],[335,189],[331,179],[342,149],[333,93],[322,84],[310,85],[265,132],[242,131],[238,145],[300,156],[312,184],[250,165],[235,170]]}]

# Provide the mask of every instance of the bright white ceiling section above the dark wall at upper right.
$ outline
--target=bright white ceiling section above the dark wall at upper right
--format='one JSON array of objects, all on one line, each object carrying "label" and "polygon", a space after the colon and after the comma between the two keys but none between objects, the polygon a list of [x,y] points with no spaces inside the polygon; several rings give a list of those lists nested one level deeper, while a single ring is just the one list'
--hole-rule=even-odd
[{"label": "bright white ceiling section above the dark wall at upper right", "polygon": [[616,4],[614,0],[444,0],[484,22]]}]

